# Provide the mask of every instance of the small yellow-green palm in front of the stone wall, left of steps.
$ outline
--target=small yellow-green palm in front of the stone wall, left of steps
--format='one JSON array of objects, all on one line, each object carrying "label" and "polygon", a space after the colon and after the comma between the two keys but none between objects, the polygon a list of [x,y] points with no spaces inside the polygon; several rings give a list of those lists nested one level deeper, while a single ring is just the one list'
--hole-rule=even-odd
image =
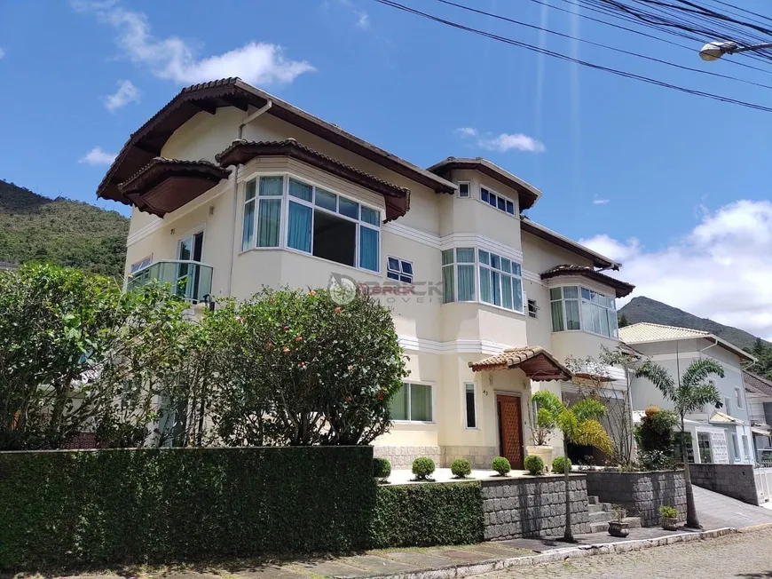
[{"label": "small yellow-green palm in front of the stone wall, left of steps", "polygon": [[[611,439],[603,430],[603,426],[598,422],[598,418],[606,412],[606,407],[599,401],[586,398],[574,403],[570,408],[563,405],[563,402],[554,394],[547,390],[540,390],[533,393],[531,400],[536,402],[539,410],[547,410],[557,424],[558,429],[563,432],[563,456],[568,461],[569,442],[600,448],[603,452],[611,452]],[[571,499],[569,493],[569,474],[571,469],[563,469],[563,480],[565,481],[565,532],[563,541],[575,543],[573,529],[571,528]]]}]

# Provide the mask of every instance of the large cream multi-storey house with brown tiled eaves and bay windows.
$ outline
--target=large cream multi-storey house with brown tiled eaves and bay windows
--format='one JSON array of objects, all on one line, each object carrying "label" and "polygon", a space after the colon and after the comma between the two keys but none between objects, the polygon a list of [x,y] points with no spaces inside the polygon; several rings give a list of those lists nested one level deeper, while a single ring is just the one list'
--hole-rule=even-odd
[{"label": "large cream multi-storey house with brown tiled eaves and bay windows", "polygon": [[[532,389],[618,345],[619,264],[522,216],[541,193],[484,159],[421,169],[238,79],[181,91],[98,186],[133,206],[130,283],[192,300],[366,284],[411,371],[377,454],[522,467]],[[561,448],[559,440],[555,446]]]}]

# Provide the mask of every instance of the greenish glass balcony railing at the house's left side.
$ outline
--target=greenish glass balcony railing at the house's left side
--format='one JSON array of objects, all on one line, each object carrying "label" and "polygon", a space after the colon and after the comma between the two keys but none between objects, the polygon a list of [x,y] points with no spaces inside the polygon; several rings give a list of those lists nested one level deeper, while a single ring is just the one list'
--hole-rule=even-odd
[{"label": "greenish glass balcony railing at the house's left side", "polygon": [[169,283],[172,293],[198,303],[212,292],[212,267],[180,259],[157,261],[130,274],[128,289],[137,289],[152,282]]}]

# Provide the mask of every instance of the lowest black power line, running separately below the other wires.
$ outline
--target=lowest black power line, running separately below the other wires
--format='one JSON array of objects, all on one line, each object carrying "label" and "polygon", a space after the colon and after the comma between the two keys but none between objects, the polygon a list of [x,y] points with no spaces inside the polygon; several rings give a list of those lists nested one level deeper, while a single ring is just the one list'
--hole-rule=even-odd
[{"label": "lowest black power line, running separately below the other wires", "polygon": [[618,70],[616,68],[611,67],[604,67],[603,65],[598,65],[593,62],[588,62],[587,60],[582,59],[575,59],[571,56],[568,56],[566,54],[563,54],[561,52],[555,52],[555,51],[549,51],[547,49],[542,49],[538,46],[534,46],[532,44],[527,44],[518,40],[515,40],[514,38],[508,38],[507,36],[499,36],[494,35],[489,32],[485,32],[484,30],[479,30],[477,28],[471,28],[469,26],[466,26],[464,24],[460,24],[458,22],[453,22],[453,20],[445,20],[443,18],[440,18],[438,16],[434,16],[432,14],[429,14],[428,12],[421,12],[419,10],[415,10],[414,8],[410,8],[409,6],[406,6],[404,4],[399,4],[398,2],[394,2],[393,0],[374,0],[374,2],[377,2],[379,4],[383,4],[385,6],[390,6],[391,8],[396,8],[403,12],[408,12],[411,14],[414,14],[416,16],[420,16],[421,18],[425,18],[427,20],[433,20],[435,22],[438,22],[440,24],[444,24],[445,26],[449,26],[452,28],[458,28],[460,30],[465,30],[467,32],[471,32],[473,34],[477,34],[479,36],[485,36],[487,38],[491,38],[492,40],[496,40],[498,42],[504,43],[504,44],[511,44],[513,46],[519,46],[520,48],[524,48],[526,50],[532,51],[532,52],[540,52],[541,54],[546,54],[547,56],[552,56],[557,59],[563,59],[569,62],[575,62],[577,64],[580,64],[584,67],[590,67],[595,68],[596,70],[603,70],[604,72],[611,73],[613,75],[619,75],[624,76],[626,78],[632,78],[634,80],[641,81],[643,83],[650,83],[655,84],[657,86],[661,86],[667,89],[672,89],[674,91],[681,91],[685,92],[687,94],[704,97],[706,99],[715,99],[720,100],[721,102],[728,102],[730,104],[739,105],[741,107],[748,107],[753,108],[756,110],[765,111],[767,113],[772,113],[772,107],[766,107],[764,105],[760,105],[757,103],[747,102],[744,100],[739,99],[733,99],[731,97],[725,97],[723,95],[719,94],[713,94],[711,92],[705,92],[705,91],[697,91],[696,89],[688,89],[686,87],[678,86],[676,84],[666,83],[664,81],[660,81],[655,78],[650,78],[648,76],[643,75],[636,75],[635,73],[626,72],[624,70]]}]

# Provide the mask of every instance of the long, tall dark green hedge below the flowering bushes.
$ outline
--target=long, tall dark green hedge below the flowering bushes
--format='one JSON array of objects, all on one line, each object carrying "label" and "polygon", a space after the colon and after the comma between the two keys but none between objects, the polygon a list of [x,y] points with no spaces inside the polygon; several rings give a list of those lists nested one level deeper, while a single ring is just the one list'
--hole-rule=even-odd
[{"label": "long, tall dark green hedge below the flowering bushes", "polygon": [[374,506],[370,447],[0,453],[0,569],[361,549]]}]

